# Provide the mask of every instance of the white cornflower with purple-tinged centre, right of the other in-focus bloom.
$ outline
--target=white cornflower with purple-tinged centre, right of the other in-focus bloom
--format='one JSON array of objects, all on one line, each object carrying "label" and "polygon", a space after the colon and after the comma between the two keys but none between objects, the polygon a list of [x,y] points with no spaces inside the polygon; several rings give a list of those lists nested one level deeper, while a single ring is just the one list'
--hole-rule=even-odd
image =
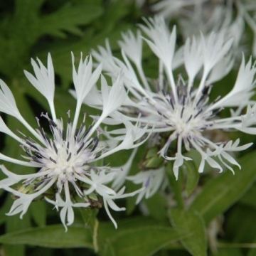
[{"label": "white cornflower with purple-tinged centre, right of the other in-focus bloom", "polygon": [[[247,149],[251,144],[240,146],[239,139],[235,142],[214,142],[207,137],[207,132],[239,130],[248,134],[256,133],[256,107],[250,107],[254,103],[250,97],[255,87],[255,64],[252,64],[251,59],[245,63],[245,58],[242,58],[233,89],[223,98],[210,100],[213,82],[223,78],[232,68],[232,62],[228,63],[232,38],[227,40],[223,31],[210,33],[209,36],[201,34],[200,38],[188,38],[182,47],[183,55],[178,57],[182,58],[180,63],[183,63],[183,73],[186,75],[177,77],[174,73],[176,66],[173,65],[176,58],[175,28],[170,32],[162,18],[149,19],[146,26],[140,27],[146,33],[144,40],[159,62],[159,77],[146,78],[142,66],[139,67],[142,72],[137,68],[138,63],[142,65],[142,60],[134,60],[127,47],[122,49],[123,60],[114,58],[110,50],[105,58],[106,67],[107,63],[111,63],[111,68],[106,68],[107,73],[114,79],[122,72],[124,85],[129,92],[129,100],[112,114],[113,119],[142,122],[151,127],[152,134],[159,134],[160,139],[155,146],[161,146],[159,154],[164,159],[174,161],[173,171],[176,178],[184,161],[192,160],[184,155],[184,151],[191,149],[196,149],[201,154],[199,172],[203,171],[206,163],[219,171],[223,171],[223,166],[231,171],[232,165],[240,167],[232,154]],[[137,42],[137,45],[134,44],[134,52],[141,49],[142,38],[131,36],[130,32],[129,38],[132,44]],[[121,46],[126,44],[129,45],[127,36]],[[102,48],[100,49],[103,52]],[[100,57],[99,52],[94,51],[93,55],[98,61],[104,58]],[[95,105],[100,107],[100,104]],[[232,111],[231,107],[235,111]],[[245,107],[247,113],[242,115]],[[224,108],[230,108],[230,117],[217,116]],[[158,178],[151,178],[151,186],[159,187],[158,181],[162,180],[161,171],[145,171],[145,174],[137,174],[129,177],[129,180],[134,183],[146,183],[151,173],[153,176],[159,174]],[[150,195],[149,191],[154,191],[151,186],[146,186],[148,192],[142,193]]]}]

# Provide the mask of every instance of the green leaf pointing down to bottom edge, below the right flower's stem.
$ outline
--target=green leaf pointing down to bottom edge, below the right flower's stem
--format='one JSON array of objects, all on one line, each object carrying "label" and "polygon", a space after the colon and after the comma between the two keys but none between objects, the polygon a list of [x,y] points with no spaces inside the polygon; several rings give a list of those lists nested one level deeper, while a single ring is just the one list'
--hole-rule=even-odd
[{"label": "green leaf pointing down to bottom edge, below the right flower's stem", "polygon": [[171,209],[171,223],[177,232],[187,233],[181,240],[182,245],[194,256],[207,255],[206,230],[203,218],[191,210]]}]

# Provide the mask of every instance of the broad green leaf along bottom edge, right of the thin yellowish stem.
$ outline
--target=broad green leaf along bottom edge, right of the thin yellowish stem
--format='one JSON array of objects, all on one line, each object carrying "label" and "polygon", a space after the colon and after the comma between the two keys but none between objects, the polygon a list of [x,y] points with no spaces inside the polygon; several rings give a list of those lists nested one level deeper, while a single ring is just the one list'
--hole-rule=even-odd
[{"label": "broad green leaf along bottom edge, right of the thin yellowish stem", "polygon": [[100,255],[153,255],[184,236],[165,223],[152,223],[146,217],[119,221],[118,225],[117,230],[110,224],[100,225]]}]

